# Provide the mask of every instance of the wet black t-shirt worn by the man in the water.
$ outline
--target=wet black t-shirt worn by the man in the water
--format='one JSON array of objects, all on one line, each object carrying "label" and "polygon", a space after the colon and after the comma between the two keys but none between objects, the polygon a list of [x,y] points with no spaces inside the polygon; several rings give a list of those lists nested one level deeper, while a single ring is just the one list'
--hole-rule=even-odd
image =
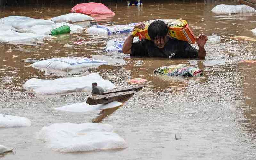
[{"label": "wet black t-shirt worn by the man in the water", "polygon": [[159,49],[153,41],[142,39],[132,44],[130,56],[165,57],[165,58],[198,58],[198,50],[188,42],[169,38],[164,48]]}]

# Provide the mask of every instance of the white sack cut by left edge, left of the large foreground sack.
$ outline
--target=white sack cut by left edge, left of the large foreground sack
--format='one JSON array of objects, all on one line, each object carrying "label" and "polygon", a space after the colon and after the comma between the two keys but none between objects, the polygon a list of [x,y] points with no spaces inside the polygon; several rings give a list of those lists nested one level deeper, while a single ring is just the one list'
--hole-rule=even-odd
[{"label": "white sack cut by left edge, left of the large foreground sack", "polygon": [[28,118],[0,114],[1,127],[29,127],[31,122]]}]

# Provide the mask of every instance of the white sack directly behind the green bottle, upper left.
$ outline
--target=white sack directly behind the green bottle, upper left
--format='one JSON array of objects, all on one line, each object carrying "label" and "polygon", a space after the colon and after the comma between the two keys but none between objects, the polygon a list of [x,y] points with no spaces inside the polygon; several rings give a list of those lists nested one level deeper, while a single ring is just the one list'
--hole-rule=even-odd
[{"label": "white sack directly behind the green bottle, upper left", "polygon": [[70,33],[76,33],[78,31],[85,30],[85,28],[78,26],[78,25],[74,25],[74,24],[56,23],[53,25],[35,25],[30,28],[19,29],[18,32],[34,33],[34,34],[38,34],[38,35],[49,35],[49,34],[51,34],[52,29],[59,28],[64,25],[68,25],[70,27]]}]

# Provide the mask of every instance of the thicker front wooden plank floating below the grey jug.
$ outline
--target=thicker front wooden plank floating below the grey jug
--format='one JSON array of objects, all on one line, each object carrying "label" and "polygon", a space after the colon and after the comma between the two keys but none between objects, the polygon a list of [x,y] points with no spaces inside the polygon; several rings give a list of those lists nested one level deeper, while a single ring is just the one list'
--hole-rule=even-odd
[{"label": "thicker front wooden plank floating below the grey jug", "polygon": [[92,97],[88,97],[86,103],[88,103],[89,105],[96,105],[96,104],[109,103],[113,101],[119,101],[126,97],[132,96],[135,93],[137,92],[125,91],[125,92],[117,92],[117,93],[109,93],[109,94],[92,96]]}]

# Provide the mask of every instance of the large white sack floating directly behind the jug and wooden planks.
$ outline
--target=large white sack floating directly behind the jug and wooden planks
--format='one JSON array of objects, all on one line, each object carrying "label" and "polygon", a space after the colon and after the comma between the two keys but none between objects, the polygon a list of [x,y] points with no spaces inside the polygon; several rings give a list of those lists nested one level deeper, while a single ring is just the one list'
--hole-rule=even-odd
[{"label": "large white sack floating directly behind the jug and wooden planks", "polygon": [[97,82],[98,86],[105,91],[114,89],[116,86],[109,80],[104,80],[98,73],[92,73],[83,77],[70,77],[60,79],[29,79],[23,84],[23,88],[30,92],[41,95],[61,94],[68,92],[91,92],[92,83]]}]

